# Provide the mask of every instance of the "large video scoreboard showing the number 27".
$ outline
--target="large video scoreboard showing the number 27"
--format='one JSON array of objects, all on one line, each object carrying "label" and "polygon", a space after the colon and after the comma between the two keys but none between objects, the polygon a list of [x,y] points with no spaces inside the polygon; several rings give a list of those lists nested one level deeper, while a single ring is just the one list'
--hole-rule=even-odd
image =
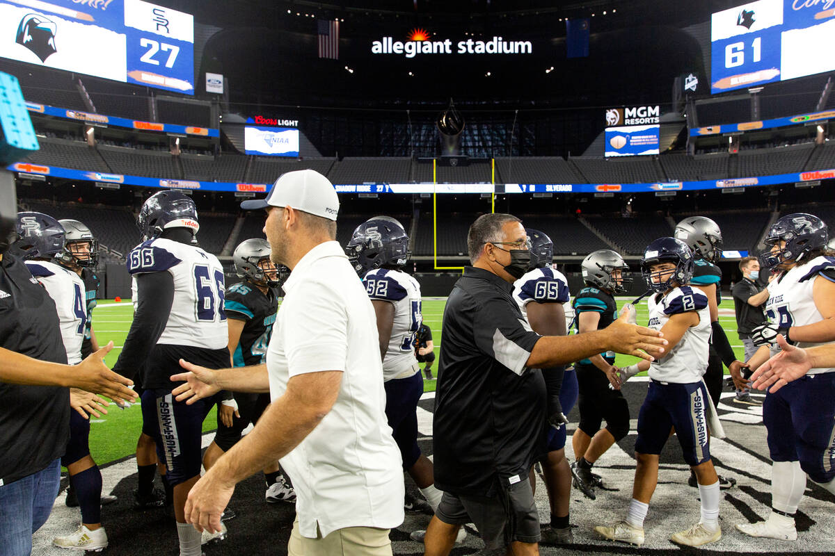
[{"label": "large video scoreboard showing the number 27", "polygon": [[0,57],[194,94],[194,17],[143,0],[0,1]]}]

